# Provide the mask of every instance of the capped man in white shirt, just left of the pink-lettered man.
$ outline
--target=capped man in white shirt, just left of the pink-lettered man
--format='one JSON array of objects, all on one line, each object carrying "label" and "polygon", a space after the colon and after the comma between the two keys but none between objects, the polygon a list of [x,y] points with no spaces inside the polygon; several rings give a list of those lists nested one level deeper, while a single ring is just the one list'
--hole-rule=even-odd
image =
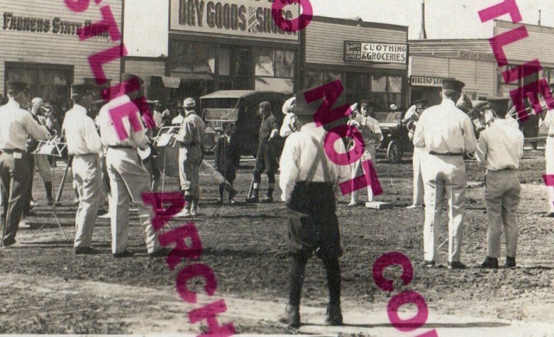
[{"label": "capped man in white shirt, just left of the pink-lettered man", "polygon": [[71,172],[79,194],[79,206],[75,214],[75,254],[96,253],[91,248],[91,239],[102,194],[102,141],[94,121],[87,116],[94,102],[94,90],[95,86],[91,84],[71,86],[73,109],[67,111],[62,125],[67,152],[73,156]]}]

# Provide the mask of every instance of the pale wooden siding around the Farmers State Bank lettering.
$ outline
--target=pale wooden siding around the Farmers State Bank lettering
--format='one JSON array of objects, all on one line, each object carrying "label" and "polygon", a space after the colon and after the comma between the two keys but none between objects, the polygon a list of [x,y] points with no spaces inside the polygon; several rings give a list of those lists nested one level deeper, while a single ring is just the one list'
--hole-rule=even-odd
[{"label": "pale wooden siding around the Farmers State Bank lettering", "polygon": [[[73,83],[82,83],[84,78],[94,78],[88,57],[107,48],[117,46],[109,37],[91,37],[80,41],[78,35],[66,35],[52,32],[52,20],[60,17],[62,21],[84,24],[85,20],[96,23],[102,19],[100,6],[109,5],[118,26],[121,23],[122,0],[104,0],[100,6],[91,1],[88,10],[80,13],[66,8],[63,0],[1,0],[1,15],[11,12],[14,17],[33,17],[48,19],[51,28],[47,33],[26,30],[3,29],[3,17],[0,17],[0,93],[4,92],[6,62],[24,62],[38,64],[64,64],[73,66]],[[120,60],[103,66],[106,77],[111,83],[119,82]]]}]

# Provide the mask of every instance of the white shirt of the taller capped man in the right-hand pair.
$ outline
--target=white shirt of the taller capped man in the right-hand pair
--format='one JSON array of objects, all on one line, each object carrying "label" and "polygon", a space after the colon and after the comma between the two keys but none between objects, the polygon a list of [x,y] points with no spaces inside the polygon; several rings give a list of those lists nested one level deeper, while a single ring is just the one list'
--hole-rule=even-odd
[{"label": "white shirt of the taller capped man in the right-hand pair", "polygon": [[452,100],[444,99],[422,113],[413,134],[413,145],[439,154],[472,153],[477,140],[470,117],[456,108]]}]

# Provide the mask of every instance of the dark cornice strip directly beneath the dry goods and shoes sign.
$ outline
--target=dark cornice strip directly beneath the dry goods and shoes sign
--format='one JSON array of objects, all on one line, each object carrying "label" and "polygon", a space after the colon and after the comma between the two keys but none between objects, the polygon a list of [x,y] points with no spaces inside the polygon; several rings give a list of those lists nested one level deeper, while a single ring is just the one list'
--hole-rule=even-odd
[{"label": "dark cornice strip directly beneath the dry goods and shoes sign", "polygon": [[276,39],[262,39],[262,38],[241,38],[241,37],[231,37],[224,35],[206,35],[206,34],[196,34],[189,32],[181,32],[178,30],[169,31],[169,39],[177,39],[181,41],[190,41],[190,42],[204,42],[204,43],[213,43],[213,44],[233,44],[238,46],[260,46],[260,47],[281,47],[285,49],[299,49],[300,42],[298,41],[287,41],[287,40],[276,40]]}]

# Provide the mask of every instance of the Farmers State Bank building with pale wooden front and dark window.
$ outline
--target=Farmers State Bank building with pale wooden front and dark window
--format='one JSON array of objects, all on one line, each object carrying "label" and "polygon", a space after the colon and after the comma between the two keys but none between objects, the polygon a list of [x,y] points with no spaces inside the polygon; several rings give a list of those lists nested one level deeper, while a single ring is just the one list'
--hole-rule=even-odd
[{"label": "Farmers State Bank building with pale wooden front and dark window", "polygon": [[[122,1],[104,0],[118,23]],[[114,46],[107,33],[81,41],[77,29],[102,20],[99,6],[73,12],[63,0],[2,0],[0,29],[0,93],[6,82],[30,84],[32,97],[60,109],[70,98],[71,84],[96,83],[89,56]],[[103,66],[110,82],[118,82],[120,61]]]}]

